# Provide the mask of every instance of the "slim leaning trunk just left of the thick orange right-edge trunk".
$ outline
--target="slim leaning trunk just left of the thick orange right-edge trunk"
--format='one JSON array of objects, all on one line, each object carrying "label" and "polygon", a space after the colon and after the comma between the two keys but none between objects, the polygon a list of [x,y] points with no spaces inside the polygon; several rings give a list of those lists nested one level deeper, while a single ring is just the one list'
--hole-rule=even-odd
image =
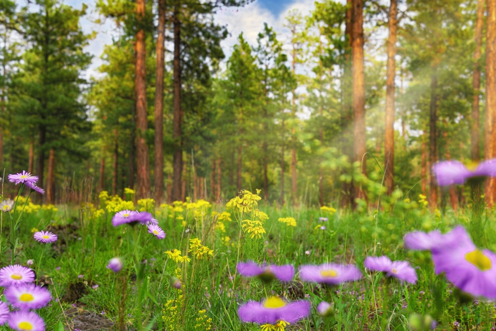
[{"label": "slim leaning trunk just left of the thick orange right-edge trunk", "polygon": [[477,1],[477,19],[475,21],[475,51],[474,51],[474,74],[472,76],[472,88],[474,98],[472,101],[472,125],[470,134],[471,158],[474,162],[479,162],[480,139],[479,139],[479,101],[481,90],[481,47],[482,30],[484,26],[484,0]]}]

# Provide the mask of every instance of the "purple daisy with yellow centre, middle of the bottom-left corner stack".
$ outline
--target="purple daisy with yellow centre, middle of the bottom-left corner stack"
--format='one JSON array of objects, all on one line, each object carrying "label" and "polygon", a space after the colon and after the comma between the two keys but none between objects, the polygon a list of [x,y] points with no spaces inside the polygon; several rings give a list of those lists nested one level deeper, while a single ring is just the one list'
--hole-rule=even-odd
[{"label": "purple daisy with yellow centre, middle of the bottom-left corner stack", "polygon": [[48,289],[34,283],[9,286],[5,288],[3,295],[13,307],[20,310],[42,308],[52,300],[52,294]]}]

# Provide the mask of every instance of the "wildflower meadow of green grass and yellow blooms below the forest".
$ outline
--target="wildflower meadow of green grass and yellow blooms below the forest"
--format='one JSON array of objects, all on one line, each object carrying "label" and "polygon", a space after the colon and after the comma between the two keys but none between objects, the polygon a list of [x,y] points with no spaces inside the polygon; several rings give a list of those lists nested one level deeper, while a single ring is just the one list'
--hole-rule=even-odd
[{"label": "wildflower meadow of green grass and yellow blooms below the forest", "polygon": [[[470,296],[443,273],[436,274],[434,253],[404,247],[405,234],[412,231],[444,234],[457,225],[469,229],[470,205],[456,212],[449,208],[432,212],[420,195],[396,197],[388,203],[385,199],[385,207],[374,209],[359,204],[356,211],[333,204],[280,207],[263,201],[257,190],[218,204],[187,199],[156,206],[153,199],[135,201],[134,191],[126,189],[124,197],[102,191],[81,205],[54,206],[35,204],[36,191],[23,183],[18,188],[19,195],[12,201],[2,199],[0,205],[1,266],[32,269],[34,282],[48,288],[51,300],[31,309],[43,319],[44,329],[21,323],[16,328],[5,324],[0,330],[420,331],[435,327],[489,331],[496,327],[491,300]],[[126,220],[129,214],[138,214],[135,210],[151,214],[158,227],[150,230],[149,222]],[[486,209],[484,217],[492,219],[493,211]],[[491,222],[484,226],[485,248],[496,251],[495,226]],[[57,240],[48,240],[48,235],[35,240],[40,231],[57,235]],[[365,268],[367,257],[380,256],[408,262],[415,281]],[[248,262],[260,265],[260,272],[247,275],[240,263]],[[353,266],[360,275],[335,284],[302,279],[301,267],[329,263]],[[290,279],[282,281],[271,265],[293,267],[294,275],[286,272]],[[321,275],[324,271],[329,269]],[[3,301],[5,297],[6,293]],[[258,307],[256,302],[264,298],[282,300],[269,309],[305,302],[309,310],[302,316],[290,312],[297,319],[290,324],[278,316],[274,323],[243,322],[239,309],[251,301]],[[17,308],[11,305],[11,311]]]}]

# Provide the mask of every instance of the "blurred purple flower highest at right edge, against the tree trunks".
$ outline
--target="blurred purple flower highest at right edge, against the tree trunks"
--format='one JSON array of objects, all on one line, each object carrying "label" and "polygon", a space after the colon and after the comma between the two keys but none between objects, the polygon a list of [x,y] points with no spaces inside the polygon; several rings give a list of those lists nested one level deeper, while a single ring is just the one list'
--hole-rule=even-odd
[{"label": "blurred purple flower highest at right edge, against the tree trunks", "polygon": [[439,186],[461,185],[472,177],[496,176],[496,159],[480,163],[474,171],[467,169],[460,161],[442,161],[434,164],[433,172]]}]

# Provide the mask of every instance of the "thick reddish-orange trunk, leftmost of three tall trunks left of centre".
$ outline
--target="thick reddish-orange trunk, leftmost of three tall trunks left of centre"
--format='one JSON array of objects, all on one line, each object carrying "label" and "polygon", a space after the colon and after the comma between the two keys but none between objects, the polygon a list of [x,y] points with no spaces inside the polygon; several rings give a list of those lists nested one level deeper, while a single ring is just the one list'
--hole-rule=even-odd
[{"label": "thick reddish-orange trunk, leftmost of three tall trunks left of centre", "polygon": [[[136,0],[136,16],[138,25],[145,16],[145,0]],[[136,199],[144,199],[150,196],[150,160],[148,157],[148,145],[145,140],[145,132],[148,129],[146,111],[146,45],[145,30],[140,27],[136,34],[136,64],[134,67],[134,91],[136,95],[136,168],[137,168],[137,190]]]}]

